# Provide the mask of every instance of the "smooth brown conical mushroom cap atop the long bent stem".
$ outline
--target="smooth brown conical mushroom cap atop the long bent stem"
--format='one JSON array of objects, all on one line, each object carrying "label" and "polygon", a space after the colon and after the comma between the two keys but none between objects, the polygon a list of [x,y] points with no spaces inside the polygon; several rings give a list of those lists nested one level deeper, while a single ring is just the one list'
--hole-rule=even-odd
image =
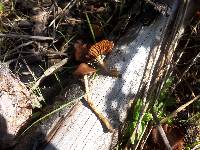
[{"label": "smooth brown conical mushroom cap atop the long bent stem", "polygon": [[91,68],[89,65],[85,63],[81,63],[73,74],[75,76],[84,76],[84,75],[90,75],[94,72],[96,72],[95,69]]}]

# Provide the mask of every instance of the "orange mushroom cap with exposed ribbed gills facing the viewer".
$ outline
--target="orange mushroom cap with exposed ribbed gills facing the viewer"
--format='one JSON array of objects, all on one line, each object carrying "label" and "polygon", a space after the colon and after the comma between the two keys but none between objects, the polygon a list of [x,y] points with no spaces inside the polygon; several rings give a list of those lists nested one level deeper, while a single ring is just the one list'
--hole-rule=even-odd
[{"label": "orange mushroom cap with exposed ribbed gills facing the viewer", "polygon": [[113,41],[102,40],[89,48],[88,57],[91,59],[96,59],[99,55],[110,53],[113,47]]}]

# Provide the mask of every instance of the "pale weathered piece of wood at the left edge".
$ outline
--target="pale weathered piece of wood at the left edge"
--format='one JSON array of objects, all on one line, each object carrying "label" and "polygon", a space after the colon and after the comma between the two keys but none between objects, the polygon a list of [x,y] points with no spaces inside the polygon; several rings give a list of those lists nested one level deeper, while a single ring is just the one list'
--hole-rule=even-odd
[{"label": "pale weathered piece of wood at the left edge", "polygon": [[19,129],[32,115],[32,99],[26,86],[0,63],[0,149],[15,144]]}]

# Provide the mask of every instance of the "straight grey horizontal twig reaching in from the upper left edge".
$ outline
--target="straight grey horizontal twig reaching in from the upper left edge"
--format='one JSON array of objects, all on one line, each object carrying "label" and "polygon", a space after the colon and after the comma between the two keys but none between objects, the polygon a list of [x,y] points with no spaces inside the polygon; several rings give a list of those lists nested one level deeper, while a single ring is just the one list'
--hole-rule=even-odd
[{"label": "straight grey horizontal twig reaching in from the upper left edge", "polygon": [[33,39],[33,40],[41,40],[41,41],[53,40],[52,37],[46,37],[46,36],[32,36],[32,35],[23,35],[23,34],[3,34],[3,33],[0,33],[0,37]]}]

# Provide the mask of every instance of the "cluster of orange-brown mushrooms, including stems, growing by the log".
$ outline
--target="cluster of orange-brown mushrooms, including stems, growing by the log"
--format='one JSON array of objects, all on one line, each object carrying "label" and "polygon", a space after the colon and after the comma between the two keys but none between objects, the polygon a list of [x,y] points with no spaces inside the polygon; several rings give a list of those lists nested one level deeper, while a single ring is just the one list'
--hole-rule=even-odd
[{"label": "cluster of orange-brown mushrooms, including stems, growing by the log", "polygon": [[[84,83],[85,83],[85,92],[86,92],[84,99],[86,100],[90,108],[93,110],[93,112],[100,119],[100,121],[102,121],[102,123],[106,126],[108,131],[113,132],[113,127],[108,121],[108,119],[104,117],[102,113],[99,112],[97,108],[94,106],[91,100],[90,90],[89,90],[88,76],[95,73],[96,69],[90,67],[87,63],[96,60],[104,71],[106,71],[107,73],[110,73],[110,70],[106,67],[105,63],[103,62],[102,55],[110,53],[112,48],[114,47],[114,44],[112,41],[104,40],[103,41],[104,45],[100,45],[101,42],[98,42],[90,47],[88,47],[86,44],[83,44],[81,41],[78,41],[77,43],[75,43],[74,45],[75,59],[81,62],[81,64],[74,71],[74,75],[78,77],[83,77]],[[101,48],[101,46],[103,48],[98,49],[98,48]]]}]

